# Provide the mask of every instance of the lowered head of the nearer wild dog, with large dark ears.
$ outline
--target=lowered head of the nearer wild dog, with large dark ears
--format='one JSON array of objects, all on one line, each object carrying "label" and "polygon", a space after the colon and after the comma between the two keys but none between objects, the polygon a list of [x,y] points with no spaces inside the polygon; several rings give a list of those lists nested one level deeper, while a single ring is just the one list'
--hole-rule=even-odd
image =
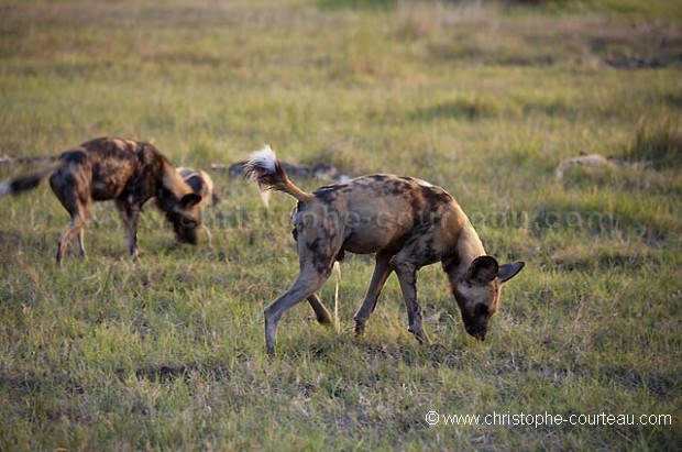
[{"label": "lowered head of the nearer wild dog, with large dark ears", "polygon": [[522,262],[499,265],[494,257],[476,257],[452,290],[464,321],[466,332],[480,341],[485,340],[491,317],[499,308],[502,285],[516,276]]}]

